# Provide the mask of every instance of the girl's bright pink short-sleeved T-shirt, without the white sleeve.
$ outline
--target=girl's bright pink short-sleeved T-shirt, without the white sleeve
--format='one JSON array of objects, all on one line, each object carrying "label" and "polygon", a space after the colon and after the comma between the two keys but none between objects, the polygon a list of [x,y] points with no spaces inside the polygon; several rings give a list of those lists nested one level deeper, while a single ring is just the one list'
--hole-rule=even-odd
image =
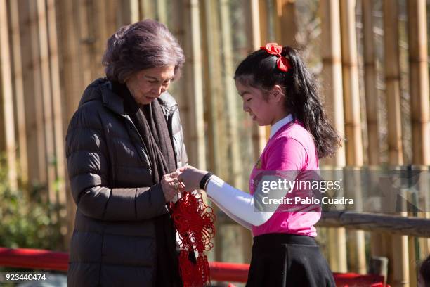
[{"label": "girl's bright pink short-sleeved T-shirt, without the white sleeve", "polygon": [[[275,127],[276,128],[276,127]],[[254,178],[262,171],[316,171],[318,155],[312,135],[297,120],[277,130],[261,153],[249,178],[249,192],[254,194]],[[298,175],[299,179],[301,174]],[[294,190],[292,191],[294,194]],[[321,217],[320,208],[312,212],[274,212],[268,221],[252,226],[254,236],[268,233],[287,233],[316,236],[314,225]]]}]

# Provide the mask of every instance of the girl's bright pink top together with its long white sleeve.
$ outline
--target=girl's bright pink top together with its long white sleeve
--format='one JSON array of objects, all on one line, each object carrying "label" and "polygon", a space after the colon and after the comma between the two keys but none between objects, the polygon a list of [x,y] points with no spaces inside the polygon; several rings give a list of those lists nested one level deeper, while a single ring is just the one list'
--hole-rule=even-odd
[{"label": "girl's bright pink top together with its long white sleeve", "polygon": [[[260,193],[257,198],[254,195],[254,186],[259,184],[259,179],[278,180],[284,177],[290,181],[306,181],[310,179],[309,174],[313,177],[315,171],[318,172],[318,156],[313,138],[300,122],[288,115],[271,127],[270,139],[250,175],[249,193],[235,189],[216,176],[211,177],[206,191],[221,210],[251,229],[254,236],[268,233],[316,236],[313,226],[321,217],[320,205],[287,205],[288,212],[285,212],[285,205],[271,205],[271,208],[278,209],[273,210],[275,212],[261,212],[256,204],[260,204],[264,194]],[[268,175],[274,173],[275,178]],[[275,196],[303,198],[308,195],[306,190],[300,188],[291,189],[291,193],[289,190],[279,192]]]}]

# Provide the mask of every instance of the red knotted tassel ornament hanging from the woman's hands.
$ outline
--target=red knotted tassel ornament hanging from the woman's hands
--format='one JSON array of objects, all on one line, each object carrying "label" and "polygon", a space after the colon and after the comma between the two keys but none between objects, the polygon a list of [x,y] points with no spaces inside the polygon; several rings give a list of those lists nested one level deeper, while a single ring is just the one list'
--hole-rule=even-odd
[{"label": "red knotted tassel ornament hanging from the woman's hands", "polygon": [[[202,193],[184,191],[172,206],[172,217],[181,243],[179,269],[184,287],[207,286],[210,281],[209,262],[204,251],[211,250],[215,236],[215,215],[210,206],[204,204]],[[197,251],[197,263],[188,260],[188,253]]]}]

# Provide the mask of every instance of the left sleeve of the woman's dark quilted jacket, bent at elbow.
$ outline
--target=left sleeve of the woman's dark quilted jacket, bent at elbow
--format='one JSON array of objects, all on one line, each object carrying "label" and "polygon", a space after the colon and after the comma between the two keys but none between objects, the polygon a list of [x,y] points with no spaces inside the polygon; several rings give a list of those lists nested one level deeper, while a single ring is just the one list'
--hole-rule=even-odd
[{"label": "left sleeve of the woman's dark quilted jacket, bent at elbow", "polygon": [[167,212],[160,184],[126,189],[109,186],[110,157],[96,105],[81,106],[67,130],[67,169],[78,210],[87,217],[114,221],[150,219]]}]

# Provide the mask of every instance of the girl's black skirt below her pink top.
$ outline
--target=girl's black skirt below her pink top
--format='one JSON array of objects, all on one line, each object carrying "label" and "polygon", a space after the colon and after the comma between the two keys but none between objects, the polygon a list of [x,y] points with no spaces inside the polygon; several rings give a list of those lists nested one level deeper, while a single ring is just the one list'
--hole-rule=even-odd
[{"label": "girl's black skirt below her pink top", "polygon": [[315,239],[294,234],[254,237],[247,287],[335,287]]}]

